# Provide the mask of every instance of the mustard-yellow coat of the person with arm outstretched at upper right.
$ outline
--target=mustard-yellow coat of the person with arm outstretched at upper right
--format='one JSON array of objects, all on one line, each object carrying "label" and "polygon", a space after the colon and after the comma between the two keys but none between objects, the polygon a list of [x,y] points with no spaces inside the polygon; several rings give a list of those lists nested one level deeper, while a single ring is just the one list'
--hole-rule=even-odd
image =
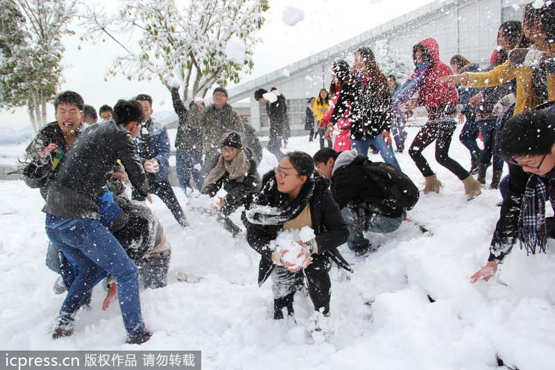
[{"label": "mustard-yellow coat of the person with arm outstretched at upper right", "polygon": [[[547,55],[553,54],[553,51],[547,52]],[[515,115],[538,106],[538,99],[532,88],[531,67],[513,67],[507,60],[488,72],[466,72],[465,74],[468,75],[468,83],[463,85],[464,87],[497,86],[516,78]],[[547,74],[547,94],[549,101],[555,100],[555,75],[550,73]]]}]

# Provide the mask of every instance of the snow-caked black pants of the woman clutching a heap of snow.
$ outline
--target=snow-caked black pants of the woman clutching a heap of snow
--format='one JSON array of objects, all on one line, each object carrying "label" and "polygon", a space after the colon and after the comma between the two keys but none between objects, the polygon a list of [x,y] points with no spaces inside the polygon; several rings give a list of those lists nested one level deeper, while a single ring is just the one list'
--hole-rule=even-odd
[{"label": "snow-caked black pants of the woman clutching a heap of snow", "polygon": [[[323,314],[330,312],[330,298],[332,297],[332,282],[328,273],[330,266],[330,260],[325,255],[312,255],[311,264],[306,269],[300,269],[297,272],[291,272],[283,266],[276,266],[272,271],[274,317],[276,316],[275,312],[281,311],[282,308],[287,308],[289,314],[293,313],[291,305],[293,294],[302,288],[305,279],[310,298],[314,303],[314,310]],[[280,303],[282,303],[282,307],[279,307]]]}]

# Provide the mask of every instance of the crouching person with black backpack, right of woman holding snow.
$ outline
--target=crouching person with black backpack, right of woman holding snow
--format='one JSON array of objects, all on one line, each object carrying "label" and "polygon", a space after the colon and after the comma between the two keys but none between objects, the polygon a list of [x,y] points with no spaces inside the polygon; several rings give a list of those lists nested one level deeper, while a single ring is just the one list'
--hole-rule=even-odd
[{"label": "crouching person with black backpack, right of woman holding snow", "polygon": [[349,226],[349,249],[364,255],[372,248],[364,232],[393,233],[401,225],[405,210],[418,201],[418,188],[398,169],[370,162],[357,151],[339,155],[330,148],[314,154],[316,168],[332,180],[332,196]]}]

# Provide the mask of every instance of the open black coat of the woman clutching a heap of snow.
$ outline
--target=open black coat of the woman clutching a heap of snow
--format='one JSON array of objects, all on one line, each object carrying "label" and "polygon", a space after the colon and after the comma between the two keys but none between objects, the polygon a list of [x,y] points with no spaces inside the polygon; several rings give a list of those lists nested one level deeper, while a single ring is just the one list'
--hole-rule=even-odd
[{"label": "open black coat of the woman clutching a heap of snow", "polygon": [[[266,173],[262,180],[262,186],[264,187],[274,176],[274,171]],[[307,199],[311,187],[310,181],[315,182],[314,192],[310,199]],[[300,194],[290,204],[299,203],[300,208],[305,208],[302,204],[306,205],[307,202],[309,203],[312,228],[314,229],[314,234],[316,234],[316,243],[318,243],[318,254],[332,258],[339,266],[351,271],[348,262],[343,259],[341,253],[337,250],[338,246],[347,241],[349,231],[343,216],[341,216],[339,207],[332,198],[329,185],[330,181],[321,177],[307,180]],[[264,187],[255,200],[257,204],[277,207],[289,203],[287,201],[287,194],[278,192],[275,183],[268,192],[264,192],[265,189]],[[248,221],[245,212],[243,216],[247,229],[247,242],[255,251],[262,255],[258,270],[258,283],[262,285],[275,267],[275,264],[272,262],[273,251],[268,249],[268,244],[278,237],[278,233],[283,230],[283,224],[252,224]]]}]

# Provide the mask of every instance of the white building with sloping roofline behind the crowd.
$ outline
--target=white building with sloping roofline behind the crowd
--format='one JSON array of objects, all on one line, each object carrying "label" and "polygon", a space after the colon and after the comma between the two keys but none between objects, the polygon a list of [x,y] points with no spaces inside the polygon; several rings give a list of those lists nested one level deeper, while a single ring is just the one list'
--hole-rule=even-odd
[{"label": "white building with sloping roofline behind the crowd", "polygon": [[[265,106],[254,99],[259,88],[276,87],[287,97],[291,130],[304,128],[306,99],[317,96],[330,86],[331,66],[336,60],[352,65],[359,47],[370,47],[397,54],[410,65],[412,47],[427,37],[439,44],[441,60],[449,62],[455,54],[488,65],[497,47],[497,30],[502,22],[522,20],[524,6],[530,0],[436,0],[413,12],[372,28],[357,37],[299,60],[265,76],[237,85],[229,90],[230,103],[250,98],[250,123],[257,131],[268,130]],[[234,105],[235,106],[235,105]],[[248,108],[241,109],[248,116]]]}]

